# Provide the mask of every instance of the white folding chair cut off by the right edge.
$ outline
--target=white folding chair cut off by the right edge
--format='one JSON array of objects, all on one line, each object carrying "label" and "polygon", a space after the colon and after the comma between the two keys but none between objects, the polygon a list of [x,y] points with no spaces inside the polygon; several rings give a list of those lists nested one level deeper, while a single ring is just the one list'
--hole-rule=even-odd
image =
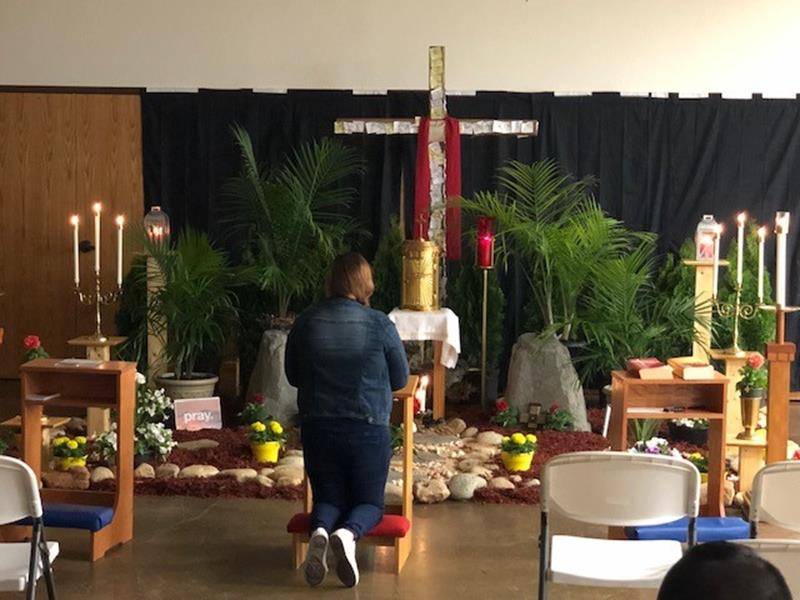
[{"label": "white folding chair cut off by the right edge", "polygon": [[[767,465],[756,473],[750,500],[750,536],[758,535],[761,521],[800,532],[800,461]],[[775,565],[786,579],[792,596],[800,598],[800,540],[739,540]]]}]

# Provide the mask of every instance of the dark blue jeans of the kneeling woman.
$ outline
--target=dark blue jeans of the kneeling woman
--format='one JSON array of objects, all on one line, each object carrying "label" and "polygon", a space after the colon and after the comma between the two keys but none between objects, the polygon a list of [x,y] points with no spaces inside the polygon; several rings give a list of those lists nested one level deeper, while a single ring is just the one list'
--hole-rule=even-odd
[{"label": "dark blue jeans of the kneeling woman", "polygon": [[383,518],[392,443],[389,427],[357,419],[315,419],[301,427],[314,494],[311,531],[344,527],[356,539]]}]

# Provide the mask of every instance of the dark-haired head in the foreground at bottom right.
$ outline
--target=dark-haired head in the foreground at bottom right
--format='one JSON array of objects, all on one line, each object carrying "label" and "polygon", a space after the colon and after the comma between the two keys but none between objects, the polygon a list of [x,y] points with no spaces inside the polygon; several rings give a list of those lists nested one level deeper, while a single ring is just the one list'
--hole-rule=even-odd
[{"label": "dark-haired head in the foreground at bottom right", "polygon": [[709,542],[673,565],[658,600],[792,600],[792,594],[778,569],[747,546]]}]

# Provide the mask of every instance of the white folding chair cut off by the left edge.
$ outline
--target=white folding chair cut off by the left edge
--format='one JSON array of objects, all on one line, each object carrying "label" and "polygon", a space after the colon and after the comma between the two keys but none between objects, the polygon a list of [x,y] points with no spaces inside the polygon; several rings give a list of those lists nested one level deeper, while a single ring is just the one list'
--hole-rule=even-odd
[{"label": "white folding chair cut off by the left edge", "polygon": [[47,595],[55,600],[51,561],[58,556],[58,543],[47,542],[42,524],[42,501],[33,470],[24,462],[0,456],[0,525],[22,519],[33,521],[28,543],[0,543],[0,592],[26,592],[36,597],[36,581],[44,574]]}]

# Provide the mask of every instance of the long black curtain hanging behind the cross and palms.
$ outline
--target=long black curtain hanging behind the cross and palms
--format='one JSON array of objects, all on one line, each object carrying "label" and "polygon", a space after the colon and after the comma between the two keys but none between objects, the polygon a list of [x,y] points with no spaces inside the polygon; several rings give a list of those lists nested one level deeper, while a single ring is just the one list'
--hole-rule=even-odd
[{"label": "long black curtain hanging behind the cross and palms", "polygon": [[[175,229],[190,225],[221,240],[219,189],[238,169],[232,123],[250,131],[266,163],[278,164],[298,143],[333,135],[337,117],[412,117],[427,108],[427,93],[410,91],[144,94],[146,205],[164,207]],[[775,211],[791,211],[787,301],[800,303],[800,100],[480,92],[450,96],[448,110],[457,118],[539,120],[537,138],[462,137],[467,196],[493,188],[496,168],[508,160],[554,158],[578,176],[596,176],[602,206],[629,227],[658,233],[662,250],[676,250],[692,236],[704,213],[728,224],[730,240],[733,218],[741,210],[768,224]],[[399,214],[401,187],[406,223],[411,222],[416,138],[363,134],[340,139],[357,147],[366,161],[357,211],[373,234],[361,248],[371,255],[390,218]],[[767,264],[773,265],[774,238],[768,239]],[[528,292],[513,266],[503,279],[507,361],[510,344],[521,333]],[[796,341],[800,318],[789,319]]]}]

